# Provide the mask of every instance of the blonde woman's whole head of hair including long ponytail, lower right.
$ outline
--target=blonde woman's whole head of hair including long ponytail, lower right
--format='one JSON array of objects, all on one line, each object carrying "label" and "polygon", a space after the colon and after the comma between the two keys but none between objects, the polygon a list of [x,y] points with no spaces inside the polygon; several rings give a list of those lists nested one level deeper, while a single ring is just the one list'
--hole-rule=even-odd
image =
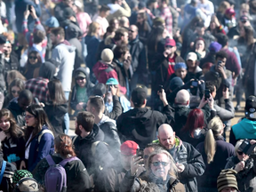
[{"label": "blonde woman's whole head of hair including long ponytail, lower right", "polygon": [[223,123],[219,116],[215,116],[208,124],[209,131],[206,133],[204,140],[204,152],[207,156],[207,164],[213,161],[216,153],[216,142],[214,136],[220,135],[223,129]]}]

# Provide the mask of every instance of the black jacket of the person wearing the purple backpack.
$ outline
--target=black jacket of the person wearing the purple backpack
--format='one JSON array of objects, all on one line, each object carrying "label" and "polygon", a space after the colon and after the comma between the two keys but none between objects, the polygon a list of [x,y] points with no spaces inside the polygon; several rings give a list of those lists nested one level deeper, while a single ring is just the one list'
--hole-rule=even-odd
[{"label": "black jacket of the person wearing the purple backpack", "polygon": [[[55,164],[60,164],[63,158],[59,154],[53,154],[52,159]],[[33,177],[38,183],[44,186],[44,174],[49,168],[49,164],[46,159],[42,159],[32,172]],[[67,192],[84,192],[91,191],[91,181],[84,164],[80,160],[73,160],[68,162],[64,169],[67,174]]]}]

